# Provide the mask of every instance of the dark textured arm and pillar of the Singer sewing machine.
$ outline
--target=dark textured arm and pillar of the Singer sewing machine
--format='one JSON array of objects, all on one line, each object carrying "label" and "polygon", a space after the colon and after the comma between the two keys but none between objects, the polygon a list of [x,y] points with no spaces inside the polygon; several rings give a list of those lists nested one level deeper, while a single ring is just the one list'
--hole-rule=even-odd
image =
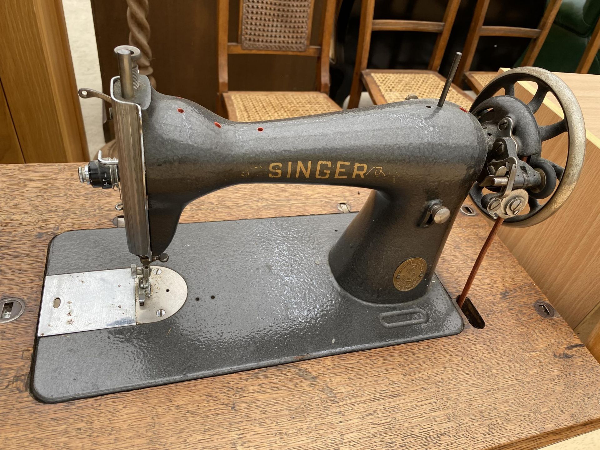
[{"label": "dark textured arm and pillar of the Singer sewing machine", "polygon": [[[155,91],[151,95],[142,124],[152,254],[168,251],[188,202],[228,185],[304,182],[374,188],[329,256],[338,283],[370,302],[411,301],[424,295],[458,209],[487,155],[479,122],[450,102],[439,108],[437,100],[410,100],[242,123],[188,100]],[[295,178],[295,170],[288,178],[289,161],[312,161],[310,178]],[[331,162],[328,178],[314,176],[318,161]],[[334,178],[337,161],[350,164],[344,166],[349,167],[347,178]],[[269,176],[274,175],[271,163],[281,164],[279,178]],[[369,175],[352,178],[355,163],[367,164]],[[452,216],[444,224],[421,228],[431,200],[441,200]],[[416,289],[400,292],[391,277],[410,257],[423,258],[427,274]]]}]

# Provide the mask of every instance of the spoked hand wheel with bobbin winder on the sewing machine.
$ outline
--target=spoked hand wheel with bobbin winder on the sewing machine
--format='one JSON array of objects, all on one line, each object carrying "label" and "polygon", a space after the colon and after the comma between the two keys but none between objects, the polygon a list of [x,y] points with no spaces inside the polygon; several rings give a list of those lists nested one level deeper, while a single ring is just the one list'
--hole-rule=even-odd
[{"label": "spoked hand wheel with bobbin winder on the sewing machine", "polygon": [[[515,83],[519,81],[538,85],[535,95],[527,104],[515,98]],[[502,88],[505,95],[493,97]],[[551,125],[539,126],[533,114],[538,111],[548,92],[552,92],[559,101],[564,118]],[[508,212],[504,221],[506,226],[528,227],[554,214],[577,183],[586,149],[583,115],[571,89],[547,70],[518,67],[488,83],[473,102],[470,112],[487,134],[490,155],[486,161],[488,172],[484,170],[470,191],[475,205],[483,214],[496,218],[493,209],[500,205],[500,194],[497,193],[506,190],[511,192],[514,187],[512,193],[520,191],[519,198],[527,199],[524,201],[529,204],[529,211],[519,214],[524,209],[520,206],[521,202],[507,198],[508,193],[505,194],[501,200],[506,199],[512,202],[512,206],[517,205],[511,210],[511,205],[503,203],[502,211]],[[569,148],[565,167],[561,167],[541,157],[541,143],[565,132],[569,134]],[[554,190],[557,182],[558,187]],[[486,187],[496,194],[484,195]],[[551,197],[544,204],[538,201],[548,196]]]}]

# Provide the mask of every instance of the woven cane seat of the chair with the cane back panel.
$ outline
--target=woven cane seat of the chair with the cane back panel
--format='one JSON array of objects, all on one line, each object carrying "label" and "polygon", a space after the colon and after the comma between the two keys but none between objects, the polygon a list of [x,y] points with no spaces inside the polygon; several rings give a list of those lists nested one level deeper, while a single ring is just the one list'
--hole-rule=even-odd
[{"label": "woven cane seat of the chair with the cane back panel", "polygon": [[229,119],[238,122],[268,121],[339,111],[322,92],[224,92]]}]

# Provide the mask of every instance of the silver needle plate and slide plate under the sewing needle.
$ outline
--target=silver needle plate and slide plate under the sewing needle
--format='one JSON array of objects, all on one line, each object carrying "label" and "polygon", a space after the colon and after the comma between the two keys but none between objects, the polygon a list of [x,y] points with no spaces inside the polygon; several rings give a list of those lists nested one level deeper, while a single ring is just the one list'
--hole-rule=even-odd
[{"label": "silver needle plate and slide plate under the sewing needle", "polygon": [[140,307],[131,269],[48,275],[37,334],[67,334],[167,319],[184,304],[187,284],[177,272],[158,266],[151,281],[152,295]]}]

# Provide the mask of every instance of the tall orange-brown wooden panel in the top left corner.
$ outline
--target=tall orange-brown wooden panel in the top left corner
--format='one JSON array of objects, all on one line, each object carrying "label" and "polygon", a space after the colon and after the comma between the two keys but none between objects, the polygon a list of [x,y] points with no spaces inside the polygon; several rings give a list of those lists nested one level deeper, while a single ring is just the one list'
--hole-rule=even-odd
[{"label": "tall orange-brown wooden panel in the top left corner", "polygon": [[85,161],[61,0],[0,2],[0,79],[26,163]]}]

